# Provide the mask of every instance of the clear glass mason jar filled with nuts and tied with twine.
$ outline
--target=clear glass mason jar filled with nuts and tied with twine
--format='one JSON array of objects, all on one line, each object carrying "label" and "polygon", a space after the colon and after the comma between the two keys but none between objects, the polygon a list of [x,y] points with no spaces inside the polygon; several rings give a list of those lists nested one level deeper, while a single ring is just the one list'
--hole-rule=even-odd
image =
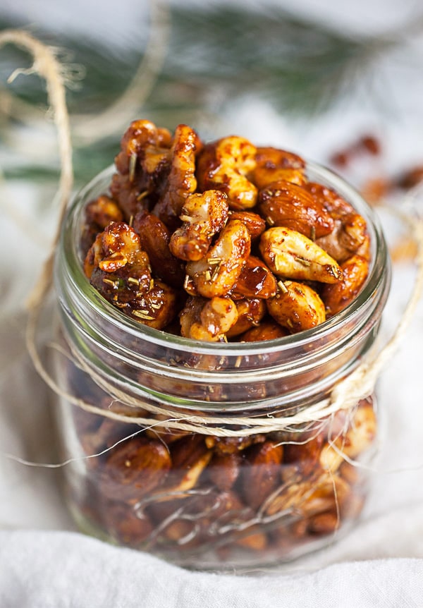
[{"label": "clear glass mason jar filled with nuts and tied with twine", "polygon": [[294,559],[359,516],[374,396],[321,420],[309,412],[374,343],[390,266],[362,197],[321,166],[307,171],[367,221],[369,275],[326,322],[255,343],[185,339],[110,305],[83,273],[79,242],[85,205],[113,169],[76,197],[56,256],[55,370],[68,393],[58,398],[66,495],[85,532],[182,566],[233,569]]}]

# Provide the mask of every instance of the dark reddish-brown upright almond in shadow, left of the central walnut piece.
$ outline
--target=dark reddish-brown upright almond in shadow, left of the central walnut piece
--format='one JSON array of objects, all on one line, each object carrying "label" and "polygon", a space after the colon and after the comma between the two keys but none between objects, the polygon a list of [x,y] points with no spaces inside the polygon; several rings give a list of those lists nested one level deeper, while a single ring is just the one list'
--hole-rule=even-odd
[{"label": "dark reddish-brown upright almond in shadow, left of the central walnut piece", "polygon": [[133,229],[140,236],[140,245],[149,257],[154,276],[158,276],[171,287],[182,288],[185,268],[171,253],[171,232],[154,214],[138,213]]}]

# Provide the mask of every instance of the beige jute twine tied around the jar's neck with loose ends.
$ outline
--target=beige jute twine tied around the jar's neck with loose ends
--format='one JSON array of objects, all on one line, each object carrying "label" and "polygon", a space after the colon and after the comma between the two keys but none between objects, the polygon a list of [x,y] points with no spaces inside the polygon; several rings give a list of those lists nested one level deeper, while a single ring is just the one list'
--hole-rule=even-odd
[{"label": "beige jute twine tied around the jar's neck with loose ends", "polygon": [[[97,406],[92,405],[92,403],[87,403],[82,399],[78,399],[74,395],[61,389],[44,367],[37,351],[35,337],[39,314],[42,310],[42,305],[47,293],[51,288],[54,253],[59,241],[61,224],[68,201],[70,200],[73,183],[71,133],[68,111],[66,109],[65,90],[61,65],[59,61],[57,61],[51,47],[45,46],[34,37],[27,34],[27,32],[21,30],[6,30],[1,32],[0,47],[8,42],[23,47],[27,51],[30,51],[34,56],[34,63],[31,71],[38,73],[47,81],[49,103],[54,111],[54,123],[56,124],[59,138],[61,158],[59,224],[51,243],[47,262],[44,264],[42,274],[39,276],[39,280],[27,303],[28,321],[26,332],[27,350],[32,362],[39,375],[56,394],[85,411],[97,413],[121,422],[130,422],[131,424],[137,423],[142,427],[160,426],[187,432],[213,434],[219,437],[242,437],[254,433],[289,430],[290,427],[293,427],[294,425],[317,422],[336,411],[353,408],[360,399],[364,399],[372,394],[376,380],[378,379],[381,370],[386,363],[388,363],[388,360],[392,358],[396,348],[398,348],[398,343],[403,338],[403,335],[415,314],[417,303],[423,292],[423,220],[421,218],[410,219],[403,217],[404,221],[408,224],[410,237],[413,238],[417,244],[417,255],[415,260],[417,265],[417,276],[410,299],[405,306],[403,316],[400,318],[391,339],[389,339],[383,347],[374,343],[360,365],[358,365],[348,377],[345,377],[336,384],[327,399],[319,401],[319,403],[314,403],[312,406],[307,406],[307,408],[304,408],[300,412],[296,412],[294,415],[267,415],[257,418],[253,416],[237,416],[229,418],[215,415],[200,416],[178,413],[178,411],[173,411],[171,408],[164,408],[163,405],[156,406],[152,403],[145,403],[142,399],[137,399],[135,396],[130,396],[123,391],[118,391],[116,387],[112,386],[103,377],[100,377],[95,370],[92,370],[91,367],[88,368],[82,358],[80,358],[80,355],[76,352],[71,356],[75,365],[78,365],[78,367],[87,371],[92,379],[94,379],[94,382],[97,382],[104,391],[111,395],[111,401],[116,400],[127,406],[138,408],[142,411],[140,413],[147,411],[151,417],[145,418],[143,415],[128,416],[116,413],[110,409],[98,408]],[[14,73],[11,78],[14,78],[16,74],[17,73]],[[157,415],[160,416],[160,420],[155,418]]]}]

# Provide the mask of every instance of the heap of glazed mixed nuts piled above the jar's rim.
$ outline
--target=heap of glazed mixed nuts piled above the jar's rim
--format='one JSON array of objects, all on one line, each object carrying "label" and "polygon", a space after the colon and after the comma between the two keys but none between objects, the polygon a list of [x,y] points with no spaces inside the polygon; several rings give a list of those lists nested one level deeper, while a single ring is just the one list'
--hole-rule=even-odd
[{"label": "heap of glazed mixed nuts piled above the jar's rim", "polygon": [[110,194],[87,205],[85,247],[87,235],[85,273],[107,300],[208,341],[255,328],[260,340],[271,319],[289,333],[314,327],[357,296],[369,269],[366,222],[309,182],[298,155],[236,136],[204,145],[186,125],[172,138],[146,120],[123,135]]}]

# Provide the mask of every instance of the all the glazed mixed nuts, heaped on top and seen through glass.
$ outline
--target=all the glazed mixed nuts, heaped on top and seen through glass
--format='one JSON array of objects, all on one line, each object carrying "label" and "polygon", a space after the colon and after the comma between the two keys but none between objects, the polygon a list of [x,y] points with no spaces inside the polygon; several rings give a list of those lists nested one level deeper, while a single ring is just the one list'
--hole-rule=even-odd
[{"label": "all the glazed mixed nuts, heaped on top and seen through glass", "polygon": [[[212,355],[197,356],[197,344],[255,348],[314,330],[353,303],[372,265],[366,220],[336,190],[310,181],[304,159],[234,135],[205,143],[186,125],[172,135],[134,121],[109,189],[85,202],[84,213],[85,276],[140,327],[190,339],[180,360],[160,361],[184,373],[224,371],[224,357],[216,363]],[[348,332],[354,349],[353,326]],[[267,349],[264,365],[272,358],[281,365],[277,353]],[[298,353],[307,353],[306,342]],[[249,356],[235,360],[235,371],[248,368]],[[277,397],[284,387],[300,391],[314,379],[319,385],[331,373],[324,365],[277,382],[268,375],[273,388],[246,385],[245,401],[260,402],[271,391]],[[146,391],[174,386],[183,399],[184,385],[171,371],[154,382],[137,371],[134,379]],[[330,537],[362,509],[366,480],[355,461],[374,445],[372,396],[323,420],[225,437],[213,425],[204,433],[169,427],[166,413],[109,397],[78,366],[68,384],[78,399],[126,416],[120,422],[79,408],[72,413],[82,454],[97,456],[87,458],[83,490],[71,482],[71,501],[96,533],[115,542],[176,561],[181,552],[212,552],[236,564],[234,556],[246,552],[252,563],[264,563]],[[188,420],[192,411],[203,413],[202,403],[231,396],[227,384],[203,389],[198,408],[183,411]],[[302,409],[298,401],[283,407],[290,414]],[[279,415],[278,408],[270,414]],[[142,426],[137,417],[155,422]]]}]

